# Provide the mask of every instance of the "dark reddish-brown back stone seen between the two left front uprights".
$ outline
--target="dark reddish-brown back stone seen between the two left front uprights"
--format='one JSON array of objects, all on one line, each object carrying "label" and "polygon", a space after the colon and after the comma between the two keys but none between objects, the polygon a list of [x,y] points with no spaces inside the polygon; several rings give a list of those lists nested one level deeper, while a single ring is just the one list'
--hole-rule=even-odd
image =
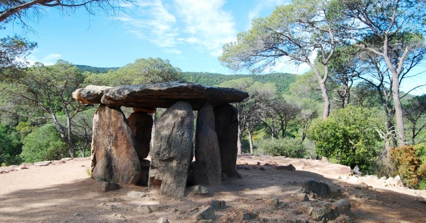
[{"label": "dark reddish-brown back stone seen between the two left front uprights", "polygon": [[127,118],[136,141],[136,153],[139,160],[145,159],[150,153],[152,116],[144,112],[134,112]]}]

